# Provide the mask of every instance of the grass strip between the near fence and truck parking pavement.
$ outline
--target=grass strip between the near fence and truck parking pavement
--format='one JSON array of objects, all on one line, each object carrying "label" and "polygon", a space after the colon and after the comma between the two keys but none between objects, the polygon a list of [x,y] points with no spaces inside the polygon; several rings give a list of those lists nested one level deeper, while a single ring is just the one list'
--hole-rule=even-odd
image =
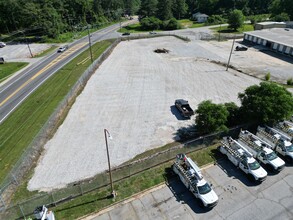
[{"label": "grass strip between the near fence and truck parking pavement", "polygon": [[[215,162],[218,158],[218,145],[213,145],[188,154],[199,166],[204,166]],[[175,160],[175,158],[174,158]],[[155,168],[141,172],[135,176],[114,183],[114,189],[118,193],[116,201],[113,201],[110,195],[110,186],[92,193],[77,197],[69,202],[60,204],[53,208],[56,219],[77,219],[94,212],[98,212],[114,203],[124,201],[125,199],[138,194],[146,189],[152,188],[163,182],[172,181],[173,174],[170,172],[173,161],[166,162]]]}]

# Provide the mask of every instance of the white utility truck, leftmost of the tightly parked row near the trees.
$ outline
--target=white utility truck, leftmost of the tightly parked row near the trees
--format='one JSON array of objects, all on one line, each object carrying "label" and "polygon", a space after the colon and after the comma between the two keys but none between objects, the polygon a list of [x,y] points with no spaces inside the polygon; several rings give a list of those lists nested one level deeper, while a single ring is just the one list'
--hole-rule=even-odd
[{"label": "white utility truck, leftmost of the tightly parked row near the trees", "polygon": [[253,158],[252,154],[231,137],[224,137],[218,150],[227,155],[228,159],[246,173],[249,179],[262,182],[268,173]]}]

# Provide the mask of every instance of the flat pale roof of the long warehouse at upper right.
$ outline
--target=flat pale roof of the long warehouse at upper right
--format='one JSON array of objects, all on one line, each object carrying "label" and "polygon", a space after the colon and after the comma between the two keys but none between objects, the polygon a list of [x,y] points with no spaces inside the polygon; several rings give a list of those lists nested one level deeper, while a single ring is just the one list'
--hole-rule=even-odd
[{"label": "flat pale roof of the long warehouse at upper right", "polygon": [[276,42],[289,47],[293,47],[293,29],[271,28],[244,32],[244,34],[248,34],[267,41]]}]

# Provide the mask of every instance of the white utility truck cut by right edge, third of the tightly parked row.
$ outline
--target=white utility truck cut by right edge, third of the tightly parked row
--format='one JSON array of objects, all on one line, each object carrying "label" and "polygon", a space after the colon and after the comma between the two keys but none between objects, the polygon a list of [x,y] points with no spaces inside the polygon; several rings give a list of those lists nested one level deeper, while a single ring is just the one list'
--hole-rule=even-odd
[{"label": "white utility truck cut by right edge, third of the tightly parked row", "polygon": [[288,136],[269,126],[258,126],[256,135],[269,143],[273,150],[283,155],[286,161],[293,162],[293,144]]}]

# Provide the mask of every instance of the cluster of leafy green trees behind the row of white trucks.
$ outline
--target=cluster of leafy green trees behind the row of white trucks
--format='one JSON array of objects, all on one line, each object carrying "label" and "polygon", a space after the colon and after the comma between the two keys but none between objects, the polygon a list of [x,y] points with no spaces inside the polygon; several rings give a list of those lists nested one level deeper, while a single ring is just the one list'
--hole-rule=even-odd
[{"label": "cluster of leafy green trees behind the row of white trucks", "polygon": [[199,133],[228,131],[228,127],[245,123],[275,125],[293,116],[292,93],[273,82],[250,86],[238,98],[240,107],[234,102],[201,102],[195,119]]}]

